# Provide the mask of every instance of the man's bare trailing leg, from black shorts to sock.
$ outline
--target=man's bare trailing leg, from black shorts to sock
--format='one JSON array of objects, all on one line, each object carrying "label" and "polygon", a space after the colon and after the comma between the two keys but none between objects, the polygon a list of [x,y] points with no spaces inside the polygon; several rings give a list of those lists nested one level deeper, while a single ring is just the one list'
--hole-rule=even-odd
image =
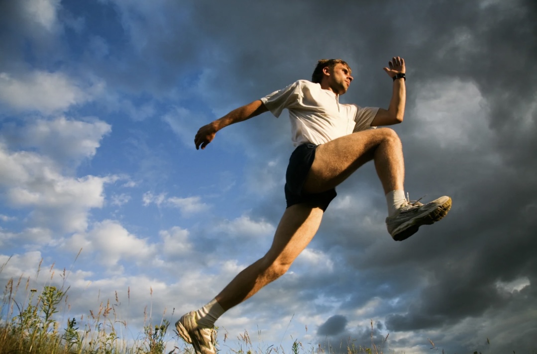
[{"label": "man's bare trailing leg, from black shorts to sock", "polygon": [[306,204],[287,208],[274,235],[272,246],[261,259],[241,271],[216,301],[226,311],[242,303],[263,286],[284,275],[317,232],[323,211]]}]

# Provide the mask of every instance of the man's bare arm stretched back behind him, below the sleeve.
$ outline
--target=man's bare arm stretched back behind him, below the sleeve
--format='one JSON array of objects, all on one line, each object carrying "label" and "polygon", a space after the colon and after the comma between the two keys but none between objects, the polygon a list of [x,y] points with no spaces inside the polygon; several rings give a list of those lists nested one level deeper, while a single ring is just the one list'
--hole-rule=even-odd
[{"label": "man's bare arm stretched back behind him, below the sleeve", "polygon": [[229,124],[242,122],[255,117],[256,115],[267,112],[267,110],[261,100],[256,100],[248,105],[234,109],[222,118],[201,127],[194,138],[196,150],[199,150],[200,146],[201,149],[205,149],[205,146],[213,141],[216,132],[220,129],[229,126]]}]

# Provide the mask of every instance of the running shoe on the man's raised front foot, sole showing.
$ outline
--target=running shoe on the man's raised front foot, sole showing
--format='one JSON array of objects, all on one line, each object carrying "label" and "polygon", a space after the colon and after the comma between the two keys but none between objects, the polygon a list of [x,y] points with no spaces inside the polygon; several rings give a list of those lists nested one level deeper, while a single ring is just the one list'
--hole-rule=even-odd
[{"label": "running shoe on the man's raised front foot, sole showing", "polygon": [[386,218],[386,226],[391,237],[403,241],[418,231],[422,225],[431,225],[447,215],[451,209],[451,198],[440,197],[430,203],[405,203],[394,216]]}]

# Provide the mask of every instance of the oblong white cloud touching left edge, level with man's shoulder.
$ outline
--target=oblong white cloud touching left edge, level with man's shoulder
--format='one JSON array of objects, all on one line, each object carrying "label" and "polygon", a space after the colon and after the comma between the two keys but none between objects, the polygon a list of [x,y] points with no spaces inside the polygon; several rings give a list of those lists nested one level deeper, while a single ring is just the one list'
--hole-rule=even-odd
[{"label": "oblong white cloud touching left edge, level with man's shoulder", "polygon": [[16,110],[63,111],[90,100],[102,88],[97,83],[84,89],[62,72],[36,70],[20,77],[0,73],[0,101]]}]

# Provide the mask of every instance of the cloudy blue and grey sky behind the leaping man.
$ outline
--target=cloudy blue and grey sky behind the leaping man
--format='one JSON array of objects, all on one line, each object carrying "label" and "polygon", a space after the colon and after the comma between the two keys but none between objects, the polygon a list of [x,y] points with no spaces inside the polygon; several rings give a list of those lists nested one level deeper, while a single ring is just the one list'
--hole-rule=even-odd
[{"label": "cloudy blue and grey sky behind the leaping man", "polygon": [[342,102],[387,108],[401,56],[405,191],[452,210],[394,242],[361,167],[287,274],[216,322],[219,348],[247,331],[337,351],[373,327],[384,352],[535,351],[536,16],[531,0],[0,1],[0,285],[69,286],[64,322],[110,299],[133,337],[147,312],[175,323],[269,248],[293,151],[285,113],[203,151],[199,127],[321,58],[353,70]]}]

